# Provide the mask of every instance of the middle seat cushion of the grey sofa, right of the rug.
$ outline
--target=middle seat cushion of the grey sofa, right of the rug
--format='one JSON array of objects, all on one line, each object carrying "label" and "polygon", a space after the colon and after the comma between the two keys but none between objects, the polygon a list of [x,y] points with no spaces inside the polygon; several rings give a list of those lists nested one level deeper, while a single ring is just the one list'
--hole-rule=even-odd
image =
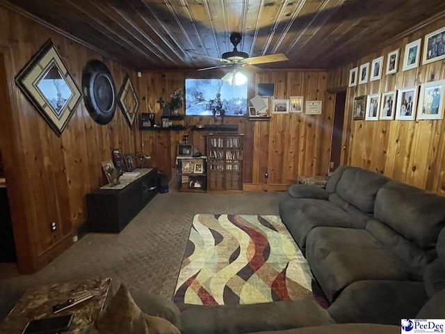
[{"label": "middle seat cushion of the grey sofa, right of the rug", "polygon": [[306,258],[330,303],[361,280],[421,280],[366,230],[314,228],[307,235]]}]

